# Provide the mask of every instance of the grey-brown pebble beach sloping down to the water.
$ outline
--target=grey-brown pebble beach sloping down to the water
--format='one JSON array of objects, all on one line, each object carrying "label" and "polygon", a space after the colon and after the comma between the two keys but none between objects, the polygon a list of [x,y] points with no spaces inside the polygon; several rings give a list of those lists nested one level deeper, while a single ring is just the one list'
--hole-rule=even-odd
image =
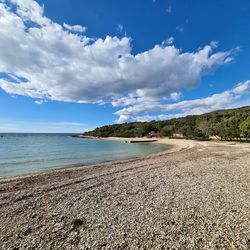
[{"label": "grey-brown pebble beach sloping down to the water", "polygon": [[250,145],[0,182],[0,249],[249,249]]}]

